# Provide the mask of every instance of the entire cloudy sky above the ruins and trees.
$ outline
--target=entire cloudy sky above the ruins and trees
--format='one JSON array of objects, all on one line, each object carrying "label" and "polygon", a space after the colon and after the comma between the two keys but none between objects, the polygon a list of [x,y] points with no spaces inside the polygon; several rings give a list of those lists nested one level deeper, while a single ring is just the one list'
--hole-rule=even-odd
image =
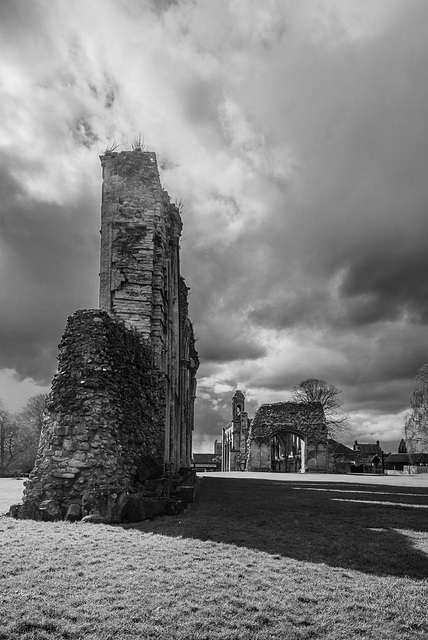
[{"label": "entire cloudy sky above the ruins and trees", "polygon": [[395,450],[428,362],[426,0],[0,2],[0,397],[98,305],[101,169],[141,133],[185,204],[195,451],[322,378]]}]

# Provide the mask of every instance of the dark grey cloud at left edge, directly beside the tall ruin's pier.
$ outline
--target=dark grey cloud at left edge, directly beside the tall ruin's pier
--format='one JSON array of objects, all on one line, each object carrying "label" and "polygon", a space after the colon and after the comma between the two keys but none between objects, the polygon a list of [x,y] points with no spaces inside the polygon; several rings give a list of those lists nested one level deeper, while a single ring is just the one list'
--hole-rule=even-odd
[{"label": "dark grey cloud at left edge, directly beside the tall ruin's pier", "polygon": [[98,202],[32,199],[4,165],[0,190],[0,362],[46,384],[67,316],[97,306]]}]

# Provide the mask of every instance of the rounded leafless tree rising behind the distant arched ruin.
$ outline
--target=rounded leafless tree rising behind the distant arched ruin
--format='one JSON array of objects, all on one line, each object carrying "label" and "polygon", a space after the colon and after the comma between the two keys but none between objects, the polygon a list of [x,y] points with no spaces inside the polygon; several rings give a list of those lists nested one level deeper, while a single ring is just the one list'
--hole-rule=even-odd
[{"label": "rounded leafless tree rising behind the distant arched ruin", "polygon": [[349,418],[340,409],[342,401],[339,396],[341,390],[328,384],[325,380],[308,378],[293,388],[294,402],[319,402],[324,409],[328,435],[335,436],[349,430]]}]

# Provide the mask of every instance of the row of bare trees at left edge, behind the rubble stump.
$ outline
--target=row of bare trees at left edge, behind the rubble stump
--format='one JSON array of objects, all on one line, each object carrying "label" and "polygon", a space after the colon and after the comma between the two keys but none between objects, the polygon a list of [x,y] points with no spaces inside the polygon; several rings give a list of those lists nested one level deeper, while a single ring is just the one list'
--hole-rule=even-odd
[{"label": "row of bare trees at left edge, behind the rubble stump", "polygon": [[29,473],[33,468],[47,398],[38,393],[15,413],[0,399],[0,476]]}]

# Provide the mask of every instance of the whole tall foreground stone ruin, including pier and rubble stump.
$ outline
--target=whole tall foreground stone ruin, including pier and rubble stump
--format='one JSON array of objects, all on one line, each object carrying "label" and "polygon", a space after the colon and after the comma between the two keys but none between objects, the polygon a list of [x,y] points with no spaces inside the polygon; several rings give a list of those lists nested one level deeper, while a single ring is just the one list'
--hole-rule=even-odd
[{"label": "whole tall foreground stone ruin, including pier and rubble stump", "polygon": [[180,213],[154,153],[101,164],[100,309],[68,319],[20,518],[142,520],[189,493],[199,360]]}]

